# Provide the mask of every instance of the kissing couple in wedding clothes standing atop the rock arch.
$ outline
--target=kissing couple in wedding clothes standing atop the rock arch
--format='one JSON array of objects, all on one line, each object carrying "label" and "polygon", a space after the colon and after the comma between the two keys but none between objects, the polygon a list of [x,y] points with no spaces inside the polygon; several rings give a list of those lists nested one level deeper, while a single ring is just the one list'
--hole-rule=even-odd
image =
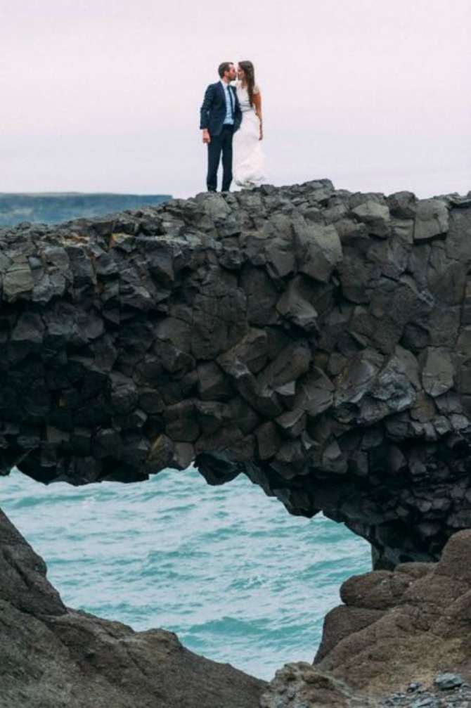
[{"label": "kissing couple in wedding clothes standing atop the rock arch", "polygon": [[208,192],[217,191],[221,157],[223,192],[229,191],[232,175],[239,187],[258,187],[266,177],[261,93],[254,64],[239,62],[236,69],[232,62],[222,62],[217,73],[220,81],[208,86],[200,111],[203,143],[208,145]]}]

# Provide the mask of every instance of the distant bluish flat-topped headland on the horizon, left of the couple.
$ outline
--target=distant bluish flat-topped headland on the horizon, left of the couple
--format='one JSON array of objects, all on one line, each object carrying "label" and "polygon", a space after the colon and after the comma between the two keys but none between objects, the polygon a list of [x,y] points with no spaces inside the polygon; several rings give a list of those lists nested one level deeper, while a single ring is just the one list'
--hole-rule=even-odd
[{"label": "distant bluish flat-topped headland on the horizon, left of the couple", "polygon": [[170,199],[168,194],[0,193],[0,226],[21,222],[59,224],[80,217],[99,217]]}]

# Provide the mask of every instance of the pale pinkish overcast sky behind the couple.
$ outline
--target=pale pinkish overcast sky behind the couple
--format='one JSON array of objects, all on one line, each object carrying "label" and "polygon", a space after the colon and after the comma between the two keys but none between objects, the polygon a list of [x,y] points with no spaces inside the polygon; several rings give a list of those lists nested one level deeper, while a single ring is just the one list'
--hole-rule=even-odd
[{"label": "pale pinkish overcast sky behind the couple", "polygon": [[190,196],[251,59],[268,181],[471,190],[471,0],[0,0],[0,191]]}]

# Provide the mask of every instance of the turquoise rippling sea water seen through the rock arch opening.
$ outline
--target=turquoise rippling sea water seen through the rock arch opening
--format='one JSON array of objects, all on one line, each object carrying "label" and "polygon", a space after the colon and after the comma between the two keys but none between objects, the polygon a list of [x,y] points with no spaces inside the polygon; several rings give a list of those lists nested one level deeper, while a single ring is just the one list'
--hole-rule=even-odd
[{"label": "turquoise rippling sea water seen through the rock arch opening", "polygon": [[312,661],[340,584],[370,570],[363,539],[322,515],[290,516],[243,475],[210,487],[195,469],[165,470],[74,488],[15,471],[0,490],[66,605],[171,629],[188,649],[261,678]]}]

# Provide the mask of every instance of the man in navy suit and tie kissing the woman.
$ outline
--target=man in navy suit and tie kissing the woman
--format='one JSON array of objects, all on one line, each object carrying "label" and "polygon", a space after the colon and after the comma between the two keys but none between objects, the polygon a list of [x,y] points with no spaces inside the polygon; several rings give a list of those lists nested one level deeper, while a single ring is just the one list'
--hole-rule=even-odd
[{"label": "man in navy suit and tie kissing the woman", "polygon": [[200,128],[208,145],[208,192],[217,188],[217,169],[222,154],[222,191],[228,192],[232,182],[232,136],[242,120],[237,93],[230,82],[236,77],[232,62],[220,64],[220,81],[210,84],[201,106]]}]

